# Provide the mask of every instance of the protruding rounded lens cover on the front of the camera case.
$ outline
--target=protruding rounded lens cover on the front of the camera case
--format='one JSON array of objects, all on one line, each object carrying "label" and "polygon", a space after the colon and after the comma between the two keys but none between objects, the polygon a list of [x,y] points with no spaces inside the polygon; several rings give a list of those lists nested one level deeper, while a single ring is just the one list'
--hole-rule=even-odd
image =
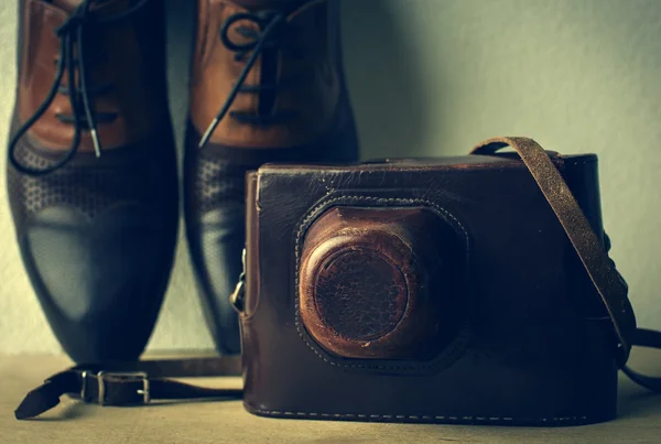
[{"label": "protruding rounded lens cover on the front of the camera case", "polygon": [[338,206],[315,216],[299,273],[301,321],[315,340],[348,358],[437,353],[453,324],[440,302],[456,304],[460,285],[460,231],[424,207]]}]

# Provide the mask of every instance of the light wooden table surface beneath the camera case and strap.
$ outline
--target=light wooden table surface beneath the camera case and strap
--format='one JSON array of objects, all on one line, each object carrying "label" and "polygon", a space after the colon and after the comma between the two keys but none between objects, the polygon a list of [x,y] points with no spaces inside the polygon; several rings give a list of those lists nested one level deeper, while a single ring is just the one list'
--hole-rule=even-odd
[{"label": "light wooden table surface beneath the camera case and strap", "polygon": [[[632,361],[661,372],[661,351],[637,351]],[[17,421],[13,410],[23,396],[68,365],[61,356],[0,356],[0,443],[661,443],[661,396],[625,378],[616,421],[561,429],[281,420],[253,416],[239,401],[101,408],[67,398],[37,420]],[[237,378],[197,381],[240,385]]]}]

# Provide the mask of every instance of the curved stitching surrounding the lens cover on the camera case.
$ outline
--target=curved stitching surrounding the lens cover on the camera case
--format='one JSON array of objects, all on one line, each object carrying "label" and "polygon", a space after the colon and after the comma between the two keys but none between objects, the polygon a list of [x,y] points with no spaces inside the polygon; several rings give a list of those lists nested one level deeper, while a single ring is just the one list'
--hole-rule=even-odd
[{"label": "curved stitching surrounding the lens cover on the camera case", "polygon": [[[427,365],[401,365],[401,366],[397,366],[397,365],[389,365],[389,366],[384,366],[384,365],[364,365],[364,364],[340,364],[340,362],[336,362],[332,359],[326,358],[325,356],[323,356],[305,337],[305,335],[303,334],[303,331],[301,328],[301,317],[300,317],[300,304],[299,304],[299,268],[300,268],[300,260],[301,260],[301,239],[303,238],[303,231],[304,229],[308,226],[311,219],[315,216],[317,216],[317,213],[324,208],[324,207],[329,207],[333,203],[336,202],[340,202],[340,201],[358,201],[358,202],[372,202],[372,203],[378,203],[378,204],[388,204],[388,203],[393,203],[393,204],[402,204],[402,205],[411,205],[411,204],[418,204],[418,205],[425,205],[429,207],[434,208],[435,210],[437,210],[438,213],[441,213],[442,215],[449,217],[455,224],[456,226],[462,230],[464,238],[465,238],[465,246],[466,246],[466,256],[468,255],[469,251],[469,245],[470,245],[470,238],[468,237],[468,231],[466,230],[466,228],[464,228],[464,226],[462,225],[462,223],[459,223],[459,220],[454,217],[449,212],[447,212],[446,209],[442,208],[441,206],[434,204],[433,202],[430,201],[425,201],[425,199],[420,199],[420,198],[397,198],[397,197],[373,197],[373,196],[338,196],[338,197],[334,197],[327,201],[322,202],[321,204],[316,205],[312,210],[308,212],[307,216],[305,216],[305,218],[303,218],[303,220],[301,221],[301,224],[299,225],[299,229],[296,230],[296,240],[295,240],[295,248],[294,248],[294,253],[295,253],[295,280],[294,280],[294,285],[295,285],[295,294],[296,296],[294,297],[294,325],[296,326],[296,332],[299,333],[299,336],[301,337],[301,339],[303,339],[303,342],[305,343],[305,345],[307,346],[307,348],[310,348],[318,358],[321,358],[324,362],[329,364],[332,366],[335,367],[342,367],[342,368],[359,368],[359,369],[375,369],[375,370],[432,370],[432,369],[436,369],[438,367],[443,367],[443,365],[445,364],[446,356],[453,356],[454,354],[457,353],[458,349],[462,349],[462,345],[466,343],[467,337],[465,332],[460,332],[459,333],[459,338],[457,339],[459,342],[459,344],[452,344],[449,346],[449,349],[447,353],[442,353],[440,355],[438,358],[435,358],[433,364],[427,364]],[[464,336],[462,338],[462,336]]]}]

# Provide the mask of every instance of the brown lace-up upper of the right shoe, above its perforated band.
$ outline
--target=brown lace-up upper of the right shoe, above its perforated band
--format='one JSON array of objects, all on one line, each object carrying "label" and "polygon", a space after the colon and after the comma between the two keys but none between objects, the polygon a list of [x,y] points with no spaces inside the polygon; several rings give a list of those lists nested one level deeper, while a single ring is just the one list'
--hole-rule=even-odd
[{"label": "brown lace-up upper of the right shoe, above its perforated band", "polygon": [[[246,6],[277,9],[289,4],[262,1]],[[297,147],[337,126],[339,113],[346,113],[342,106],[337,8],[336,0],[314,0],[290,11],[279,31],[280,47],[267,48],[259,56],[245,85],[270,85],[272,90],[240,93],[229,109],[230,113],[289,117],[277,124],[252,124],[228,116],[214,131],[210,143],[250,149]],[[198,1],[189,96],[191,121],[198,133],[212,123],[246,65],[249,52],[241,56],[240,51],[225,45],[221,36],[228,19],[248,11],[230,0]],[[227,37],[232,44],[250,45],[260,32],[256,21],[238,20],[227,29]]]}]

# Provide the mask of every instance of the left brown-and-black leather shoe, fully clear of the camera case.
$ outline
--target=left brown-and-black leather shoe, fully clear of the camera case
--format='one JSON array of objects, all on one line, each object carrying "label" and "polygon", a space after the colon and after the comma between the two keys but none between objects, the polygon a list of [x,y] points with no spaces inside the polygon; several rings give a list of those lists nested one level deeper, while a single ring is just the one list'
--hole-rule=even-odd
[{"label": "left brown-and-black leather shoe, fully clear of the camera case", "polygon": [[8,189],[24,267],[76,361],[134,359],[177,230],[163,2],[21,0]]}]

